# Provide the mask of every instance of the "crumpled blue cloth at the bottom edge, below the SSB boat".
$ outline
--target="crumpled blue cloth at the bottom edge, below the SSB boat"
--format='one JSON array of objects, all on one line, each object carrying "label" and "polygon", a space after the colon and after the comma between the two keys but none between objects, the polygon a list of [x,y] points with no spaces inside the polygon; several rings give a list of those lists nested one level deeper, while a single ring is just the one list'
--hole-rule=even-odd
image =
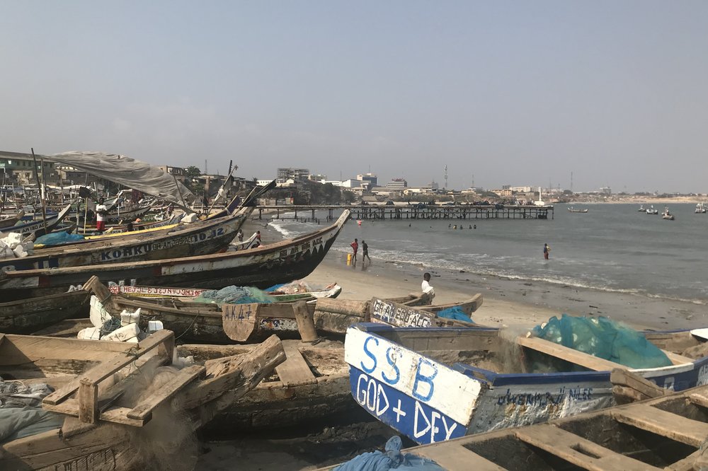
[{"label": "crumpled blue cloth at the bottom edge, below the SSB boat", "polygon": [[438,463],[413,453],[401,453],[401,437],[392,436],[386,442],[386,451],[362,453],[333,471],[445,471]]}]

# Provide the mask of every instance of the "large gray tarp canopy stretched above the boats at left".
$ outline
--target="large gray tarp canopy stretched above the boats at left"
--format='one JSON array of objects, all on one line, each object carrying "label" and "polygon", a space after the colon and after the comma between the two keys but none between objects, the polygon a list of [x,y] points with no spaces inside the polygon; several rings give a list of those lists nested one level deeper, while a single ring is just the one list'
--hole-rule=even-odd
[{"label": "large gray tarp canopy stretched above the boats at left", "polygon": [[45,158],[180,206],[192,204],[196,199],[194,194],[172,175],[149,163],[136,161],[135,158],[113,153],[75,151],[54,153]]}]

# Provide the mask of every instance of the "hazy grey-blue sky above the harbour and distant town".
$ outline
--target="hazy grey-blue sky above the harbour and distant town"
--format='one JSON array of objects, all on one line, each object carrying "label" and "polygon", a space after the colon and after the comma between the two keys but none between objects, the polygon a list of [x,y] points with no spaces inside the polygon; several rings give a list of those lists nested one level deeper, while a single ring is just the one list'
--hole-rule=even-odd
[{"label": "hazy grey-blue sky above the harbour and distant town", "polygon": [[708,1],[0,0],[0,149],[708,192]]}]

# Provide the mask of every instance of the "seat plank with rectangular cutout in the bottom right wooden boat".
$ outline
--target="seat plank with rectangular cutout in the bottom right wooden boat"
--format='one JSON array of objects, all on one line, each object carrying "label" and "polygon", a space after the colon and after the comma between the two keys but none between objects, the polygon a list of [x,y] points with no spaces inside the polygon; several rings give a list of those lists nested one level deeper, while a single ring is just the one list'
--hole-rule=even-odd
[{"label": "seat plank with rectangular cutout in the bottom right wooden boat", "polygon": [[525,427],[516,431],[515,435],[519,440],[529,445],[541,448],[586,470],[649,471],[660,469],[615,453],[593,441],[550,424]]}]

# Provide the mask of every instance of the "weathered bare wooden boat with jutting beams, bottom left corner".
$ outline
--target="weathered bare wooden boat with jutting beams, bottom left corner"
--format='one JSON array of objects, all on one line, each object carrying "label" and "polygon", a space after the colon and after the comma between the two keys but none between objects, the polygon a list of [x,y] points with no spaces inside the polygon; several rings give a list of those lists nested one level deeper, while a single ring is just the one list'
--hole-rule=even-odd
[{"label": "weathered bare wooden boat with jutting beams, bottom left corner", "polygon": [[42,429],[0,441],[0,467],[129,470],[167,460],[165,469],[193,469],[194,431],[285,359],[271,337],[239,357],[166,368],[173,345],[167,330],[138,344],[0,334],[0,376],[53,390],[28,411],[41,414]]}]

